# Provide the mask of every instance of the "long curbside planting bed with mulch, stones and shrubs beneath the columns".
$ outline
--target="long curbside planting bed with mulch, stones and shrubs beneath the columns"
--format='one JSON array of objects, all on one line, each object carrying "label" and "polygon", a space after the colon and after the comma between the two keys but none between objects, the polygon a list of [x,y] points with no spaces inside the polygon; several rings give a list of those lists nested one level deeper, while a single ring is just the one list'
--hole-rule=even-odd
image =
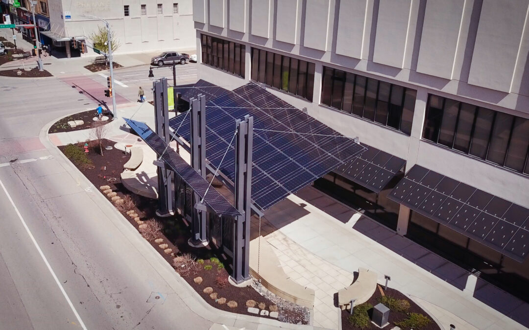
[{"label": "long curbside planting bed with mulch, stones and shrubs beneath the columns", "polygon": [[[113,148],[98,153],[96,143],[89,142],[89,153],[78,145],[61,146],[59,149],[69,156],[79,170],[116,206],[117,210],[149,241],[181,277],[211,306],[238,314],[272,318],[248,312],[248,307],[268,312],[278,312],[281,322],[308,324],[308,309],[278,297],[272,297],[260,284],[235,287],[228,282],[230,265],[225,255],[213,244],[205,248],[193,248],[187,243],[190,225],[179,215],[161,218],[156,215],[158,201],[130,193],[121,183],[120,173],[130,154]],[[103,139],[104,146],[115,143]],[[77,150],[76,150],[77,148]],[[81,155],[79,152],[82,152]],[[122,202],[117,202],[121,200]],[[184,267],[181,267],[184,265]],[[228,268],[228,269],[226,269]],[[260,292],[256,291],[256,287]],[[274,302],[272,302],[272,300]]]}]

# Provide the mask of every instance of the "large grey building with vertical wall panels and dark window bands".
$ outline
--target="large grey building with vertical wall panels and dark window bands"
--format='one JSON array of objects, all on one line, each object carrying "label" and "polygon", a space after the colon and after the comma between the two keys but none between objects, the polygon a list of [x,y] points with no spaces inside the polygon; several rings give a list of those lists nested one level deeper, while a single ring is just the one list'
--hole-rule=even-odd
[{"label": "large grey building with vertical wall panels and dark window bands", "polygon": [[194,0],[199,78],[261,82],[404,159],[380,193],[335,172],[314,184],[499,287],[527,287],[528,261],[387,196],[420,165],[529,208],[528,13],[529,0]]}]

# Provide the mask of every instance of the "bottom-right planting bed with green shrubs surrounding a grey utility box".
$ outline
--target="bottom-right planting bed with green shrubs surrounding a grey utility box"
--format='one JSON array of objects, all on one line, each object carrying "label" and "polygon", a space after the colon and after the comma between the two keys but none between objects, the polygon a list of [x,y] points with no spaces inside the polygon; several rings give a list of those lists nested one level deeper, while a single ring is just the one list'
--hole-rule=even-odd
[{"label": "bottom-right planting bed with green shrubs surrounding a grey utility box", "polygon": [[[382,291],[385,296],[382,296]],[[349,310],[342,310],[342,329],[379,329],[371,323],[372,307],[378,303],[382,303],[390,309],[389,325],[384,329],[393,329],[398,326],[402,330],[411,328],[414,330],[441,330],[420,306],[400,291],[391,288],[382,290],[380,286],[377,286],[375,293],[366,303],[353,308],[353,315],[350,314]]]}]

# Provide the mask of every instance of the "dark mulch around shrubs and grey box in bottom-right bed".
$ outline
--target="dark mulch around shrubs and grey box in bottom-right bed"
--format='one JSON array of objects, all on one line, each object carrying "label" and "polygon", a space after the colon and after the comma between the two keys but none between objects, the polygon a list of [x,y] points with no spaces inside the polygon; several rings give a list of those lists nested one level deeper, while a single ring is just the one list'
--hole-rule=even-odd
[{"label": "dark mulch around shrubs and grey box in bottom-right bed", "polygon": [[[391,288],[388,288],[387,290],[384,291],[384,294],[386,296],[390,296],[390,297],[393,297],[393,298],[396,298],[396,299],[405,299],[409,302],[409,309],[407,310],[407,313],[419,313],[419,314],[423,314],[424,316],[426,316],[427,318],[430,319],[430,324],[428,324],[427,326],[425,327],[422,327],[422,328],[414,328],[415,330],[441,330],[441,328],[437,325],[437,323],[435,323],[435,321],[424,311],[424,309],[422,309],[421,307],[419,307],[417,304],[415,304],[411,299],[409,299],[406,295],[402,294],[400,291],[397,291],[395,289],[391,289]],[[377,286],[377,289],[375,290],[375,293],[371,296],[371,298],[369,298],[369,300],[367,301],[368,304],[371,304],[373,306],[376,306],[379,301],[378,299],[381,297],[382,295],[380,294],[380,289],[379,289],[379,286]],[[355,306],[355,308],[357,308],[358,306]],[[354,310],[354,308],[353,308]],[[405,312],[397,312],[396,310],[390,310],[389,311],[389,319],[388,319],[388,322],[389,322],[389,325],[385,326],[384,329],[393,329],[396,325],[395,325],[395,322],[399,322],[399,321],[402,321],[404,319],[407,318],[407,313]],[[370,315],[371,317],[371,311],[368,312],[368,314]],[[342,329],[343,330],[358,330],[360,328],[358,327],[355,327],[353,326],[350,322],[349,322],[349,317],[351,316],[349,310],[342,310]],[[374,325],[374,324],[370,324],[369,327],[366,327],[366,328],[363,328],[362,330],[366,330],[366,329],[373,329],[373,330],[376,330],[376,329],[380,329],[378,326]],[[403,330],[407,330],[407,329],[403,329]]]}]

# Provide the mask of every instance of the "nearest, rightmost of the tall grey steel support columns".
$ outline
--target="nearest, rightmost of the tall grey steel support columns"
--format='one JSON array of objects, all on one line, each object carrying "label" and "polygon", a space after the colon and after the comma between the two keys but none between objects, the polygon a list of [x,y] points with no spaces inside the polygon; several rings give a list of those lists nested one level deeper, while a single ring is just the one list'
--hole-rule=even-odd
[{"label": "nearest, rightmost of the tall grey steel support columns", "polygon": [[253,117],[236,122],[235,137],[235,208],[242,216],[235,218],[233,241],[233,274],[231,280],[240,284],[250,279],[250,218],[252,191]]}]

